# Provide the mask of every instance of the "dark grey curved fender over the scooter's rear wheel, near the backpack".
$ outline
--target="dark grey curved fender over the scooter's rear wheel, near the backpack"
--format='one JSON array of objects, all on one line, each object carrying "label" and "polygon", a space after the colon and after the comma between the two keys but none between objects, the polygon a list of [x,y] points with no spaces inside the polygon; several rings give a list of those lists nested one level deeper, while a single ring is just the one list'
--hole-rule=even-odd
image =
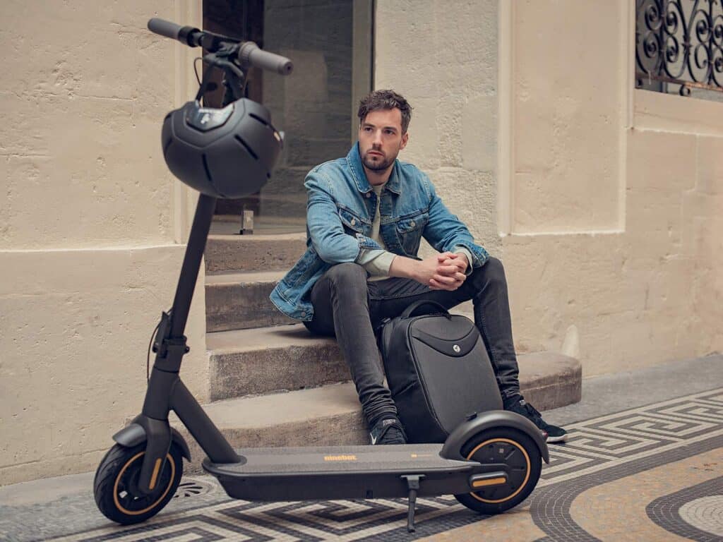
[{"label": "dark grey curved fender over the scooter's rear wheel, near the backpack", "polygon": [[465,460],[466,458],[461,455],[461,449],[469,439],[482,431],[487,431],[487,429],[502,427],[517,429],[529,436],[537,444],[544,462],[549,463],[549,451],[542,432],[527,418],[508,410],[489,410],[461,423],[445,440],[440,455],[447,459]]}]

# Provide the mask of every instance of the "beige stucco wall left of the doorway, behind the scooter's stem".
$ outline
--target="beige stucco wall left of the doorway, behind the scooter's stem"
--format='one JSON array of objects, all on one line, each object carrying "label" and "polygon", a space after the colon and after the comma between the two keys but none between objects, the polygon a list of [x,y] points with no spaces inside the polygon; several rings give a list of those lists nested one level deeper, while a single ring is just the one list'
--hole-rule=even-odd
[{"label": "beige stucco wall left of the doorway, behind the scooter's stem", "polygon": [[[193,205],[160,145],[190,64],[154,15],[198,25],[200,3],[0,4],[0,484],[93,470],[142,406]],[[202,284],[184,366],[200,399]]]}]

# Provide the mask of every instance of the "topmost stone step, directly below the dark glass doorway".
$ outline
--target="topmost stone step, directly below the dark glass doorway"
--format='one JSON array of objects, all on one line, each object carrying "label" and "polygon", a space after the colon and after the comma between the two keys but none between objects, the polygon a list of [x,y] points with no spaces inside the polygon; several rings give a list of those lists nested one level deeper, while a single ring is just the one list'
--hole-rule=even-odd
[{"label": "topmost stone step, directly below the dark glass doorway", "polygon": [[208,236],[204,252],[206,273],[288,271],[304,254],[306,240],[304,232],[212,234]]}]

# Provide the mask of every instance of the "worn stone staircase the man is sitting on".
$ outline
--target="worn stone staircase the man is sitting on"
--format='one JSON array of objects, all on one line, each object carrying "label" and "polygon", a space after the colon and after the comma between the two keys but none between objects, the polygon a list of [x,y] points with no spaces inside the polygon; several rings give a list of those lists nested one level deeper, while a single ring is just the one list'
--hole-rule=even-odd
[{"label": "worn stone staircase the man is sitting on", "polygon": [[[310,335],[268,299],[303,254],[305,239],[305,233],[208,238],[210,403],[204,408],[234,447],[367,442],[356,390],[335,340]],[[471,305],[458,312],[471,312]],[[519,364],[523,393],[537,408],[580,400],[581,366],[573,358],[530,353],[519,356]],[[190,470],[198,470],[205,454],[177,421],[176,426],[192,447]]]}]

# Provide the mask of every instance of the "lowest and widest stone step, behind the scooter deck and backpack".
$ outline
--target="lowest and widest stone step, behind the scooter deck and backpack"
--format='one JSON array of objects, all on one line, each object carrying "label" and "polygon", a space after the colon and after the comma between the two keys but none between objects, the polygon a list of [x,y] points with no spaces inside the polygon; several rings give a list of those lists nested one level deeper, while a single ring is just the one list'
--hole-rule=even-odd
[{"label": "lowest and widest stone step, behind the scooter deck and backpack", "polygon": [[[539,352],[520,356],[519,364],[523,395],[539,410],[580,400],[582,371],[576,359]],[[351,382],[216,401],[204,408],[234,448],[367,443]],[[177,419],[172,422],[191,447],[189,472],[197,472],[205,454]]]}]

